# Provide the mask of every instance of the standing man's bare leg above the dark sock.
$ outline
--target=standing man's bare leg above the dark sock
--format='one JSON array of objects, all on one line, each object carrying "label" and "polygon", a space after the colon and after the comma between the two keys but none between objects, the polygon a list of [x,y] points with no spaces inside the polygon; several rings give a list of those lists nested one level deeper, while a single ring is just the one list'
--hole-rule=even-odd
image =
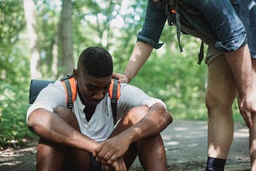
[{"label": "standing man's bare leg above the dark sock", "polygon": [[224,55],[209,66],[206,106],[208,109],[208,157],[226,159],[234,137],[232,104],[236,83]]}]

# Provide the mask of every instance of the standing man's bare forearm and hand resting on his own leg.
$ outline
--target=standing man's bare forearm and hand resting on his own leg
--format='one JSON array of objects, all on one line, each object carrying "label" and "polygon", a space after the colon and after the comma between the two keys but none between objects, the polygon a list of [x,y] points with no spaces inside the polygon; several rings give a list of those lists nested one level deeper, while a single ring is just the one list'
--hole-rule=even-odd
[{"label": "standing man's bare forearm and hand resting on his own leg", "polygon": [[233,71],[238,86],[238,105],[246,125],[252,127],[252,113],[256,113],[254,89],[252,86],[252,64],[248,46],[226,53],[227,61]]}]

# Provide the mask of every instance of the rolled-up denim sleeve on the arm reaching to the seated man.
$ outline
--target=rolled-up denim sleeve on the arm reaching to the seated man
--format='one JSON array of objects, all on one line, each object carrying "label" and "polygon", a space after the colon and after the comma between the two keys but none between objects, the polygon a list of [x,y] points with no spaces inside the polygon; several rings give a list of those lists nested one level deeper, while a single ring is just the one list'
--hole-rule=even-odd
[{"label": "rolled-up denim sleeve on the arm reaching to the seated man", "polygon": [[155,49],[160,48],[163,43],[159,43],[162,29],[166,23],[165,10],[161,10],[152,0],[148,0],[146,7],[146,18],[142,30],[137,35],[137,41],[146,42]]}]

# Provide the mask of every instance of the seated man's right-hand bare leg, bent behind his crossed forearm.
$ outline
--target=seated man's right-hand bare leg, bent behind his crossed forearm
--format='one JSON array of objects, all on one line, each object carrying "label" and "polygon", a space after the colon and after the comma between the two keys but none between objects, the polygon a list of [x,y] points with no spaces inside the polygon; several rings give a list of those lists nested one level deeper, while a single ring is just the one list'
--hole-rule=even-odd
[{"label": "seated man's right-hand bare leg, bent behind his crossed forearm", "polygon": [[[141,106],[132,109],[132,111],[129,111],[126,114],[126,117],[119,122],[111,136],[122,132],[131,125],[140,121],[142,117],[145,116],[147,110],[148,108]],[[164,171],[167,169],[166,151],[160,134],[146,137],[128,149],[128,152],[124,157],[127,168],[129,168],[134,161],[136,153],[138,154],[139,160],[144,170]]]}]

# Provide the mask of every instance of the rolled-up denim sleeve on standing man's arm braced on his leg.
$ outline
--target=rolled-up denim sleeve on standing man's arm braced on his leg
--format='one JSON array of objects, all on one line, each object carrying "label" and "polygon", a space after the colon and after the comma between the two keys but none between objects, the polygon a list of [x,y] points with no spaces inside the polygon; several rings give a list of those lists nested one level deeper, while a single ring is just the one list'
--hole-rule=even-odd
[{"label": "rolled-up denim sleeve on standing man's arm braced on his leg", "polygon": [[238,50],[246,43],[246,30],[230,0],[188,0],[209,22],[218,41],[215,47],[227,52]]}]

